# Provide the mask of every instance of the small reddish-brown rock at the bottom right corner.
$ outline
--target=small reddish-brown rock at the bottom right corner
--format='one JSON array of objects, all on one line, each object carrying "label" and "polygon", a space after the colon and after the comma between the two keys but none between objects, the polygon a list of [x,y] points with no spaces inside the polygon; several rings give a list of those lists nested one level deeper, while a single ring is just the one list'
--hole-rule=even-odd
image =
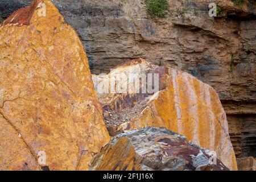
[{"label": "small reddish-brown rock at the bottom right corner", "polygon": [[237,159],[237,167],[240,171],[256,171],[256,159],[253,157]]}]

